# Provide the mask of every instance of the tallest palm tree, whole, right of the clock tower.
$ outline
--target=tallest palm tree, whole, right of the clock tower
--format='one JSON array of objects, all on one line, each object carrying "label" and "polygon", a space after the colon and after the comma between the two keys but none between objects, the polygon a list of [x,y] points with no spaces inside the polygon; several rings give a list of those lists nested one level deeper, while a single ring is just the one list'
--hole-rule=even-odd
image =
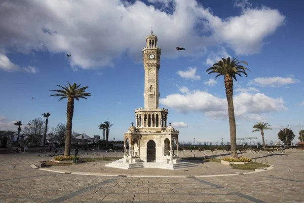
[{"label": "tallest palm tree, whole, right of the clock tower", "polygon": [[226,89],[226,97],[228,103],[228,116],[229,116],[229,125],[230,125],[230,142],[231,142],[231,156],[233,158],[238,157],[237,153],[237,132],[236,132],[236,120],[234,115],[234,106],[233,106],[233,78],[237,81],[237,75],[242,77],[241,74],[244,74],[247,77],[246,69],[240,63],[245,63],[248,65],[246,61],[236,60],[234,57],[230,60],[228,58],[222,58],[217,63],[214,63],[212,67],[207,69],[206,72],[210,71],[208,74],[216,73],[216,77],[224,76],[224,84]]}]

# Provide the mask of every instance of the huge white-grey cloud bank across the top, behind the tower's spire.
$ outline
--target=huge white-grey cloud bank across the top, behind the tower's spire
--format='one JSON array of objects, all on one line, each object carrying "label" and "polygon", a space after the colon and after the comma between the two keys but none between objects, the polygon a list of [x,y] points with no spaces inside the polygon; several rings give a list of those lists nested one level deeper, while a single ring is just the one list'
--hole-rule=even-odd
[{"label": "huge white-grey cloud bank across the top, behind the tower's spire", "polygon": [[[172,2],[166,13],[140,1],[3,0],[0,49],[24,54],[44,50],[70,53],[74,70],[98,69],[113,66],[123,53],[141,62],[138,50],[145,45],[150,26],[154,26],[164,58],[198,57],[208,46],[224,45],[238,55],[254,54],[285,19],[278,10],[265,7],[247,6],[239,15],[220,18],[195,0]],[[176,51],[176,42],[182,42],[180,46],[187,51]]]}]

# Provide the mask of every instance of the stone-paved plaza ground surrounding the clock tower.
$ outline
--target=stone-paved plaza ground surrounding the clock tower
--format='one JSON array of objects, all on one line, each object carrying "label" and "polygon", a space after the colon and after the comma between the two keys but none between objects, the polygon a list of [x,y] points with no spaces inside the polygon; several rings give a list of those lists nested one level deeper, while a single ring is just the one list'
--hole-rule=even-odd
[{"label": "stone-paved plaza ground surrounding the clock tower", "polygon": [[[80,154],[122,156],[121,152]],[[184,154],[193,156],[191,152]],[[0,154],[0,202],[304,202],[303,150],[240,154],[275,165],[258,173],[215,162],[176,171],[119,170],[104,166],[104,161],[31,168],[31,163],[52,159],[39,155],[44,153]]]}]

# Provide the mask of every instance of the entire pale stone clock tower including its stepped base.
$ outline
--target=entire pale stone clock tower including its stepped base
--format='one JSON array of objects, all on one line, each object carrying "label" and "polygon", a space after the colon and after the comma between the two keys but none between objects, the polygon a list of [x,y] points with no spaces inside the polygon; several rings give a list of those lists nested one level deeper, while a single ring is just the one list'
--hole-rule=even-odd
[{"label": "entire pale stone clock tower including its stepped base", "polygon": [[[147,36],[142,49],[144,67],[144,108],[135,109],[135,123],[124,132],[124,158],[107,164],[124,169],[156,167],[175,170],[192,167],[178,158],[178,134],[171,123],[168,109],[159,108],[159,70],[161,49],[157,36]],[[176,148],[176,151],[174,151]]]}]

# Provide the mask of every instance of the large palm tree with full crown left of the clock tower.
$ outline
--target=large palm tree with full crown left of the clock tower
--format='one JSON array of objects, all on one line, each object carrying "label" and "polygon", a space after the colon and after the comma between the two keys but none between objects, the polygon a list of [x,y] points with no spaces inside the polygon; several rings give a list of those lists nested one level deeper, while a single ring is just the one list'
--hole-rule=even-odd
[{"label": "large palm tree with full crown left of the clock tower", "polygon": [[72,119],[74,114],[74,99],[79,100],[79,98],[86,98],[86,96],[91,96],[91,93],[87,93],[87,86],[79,88],[81,85],[74,83],[72,86],[68,82],[68,87],[64,85],[58,85],[63,90],[50,90],[59,92],[59,94],[52,94],[50,96],[61,96],[61,99],[67,98],[67,109],[66,109],[66,136],[65,136],[65,148],[64,156],[69,156],[71,151],[71,139],[72,139]]}]

